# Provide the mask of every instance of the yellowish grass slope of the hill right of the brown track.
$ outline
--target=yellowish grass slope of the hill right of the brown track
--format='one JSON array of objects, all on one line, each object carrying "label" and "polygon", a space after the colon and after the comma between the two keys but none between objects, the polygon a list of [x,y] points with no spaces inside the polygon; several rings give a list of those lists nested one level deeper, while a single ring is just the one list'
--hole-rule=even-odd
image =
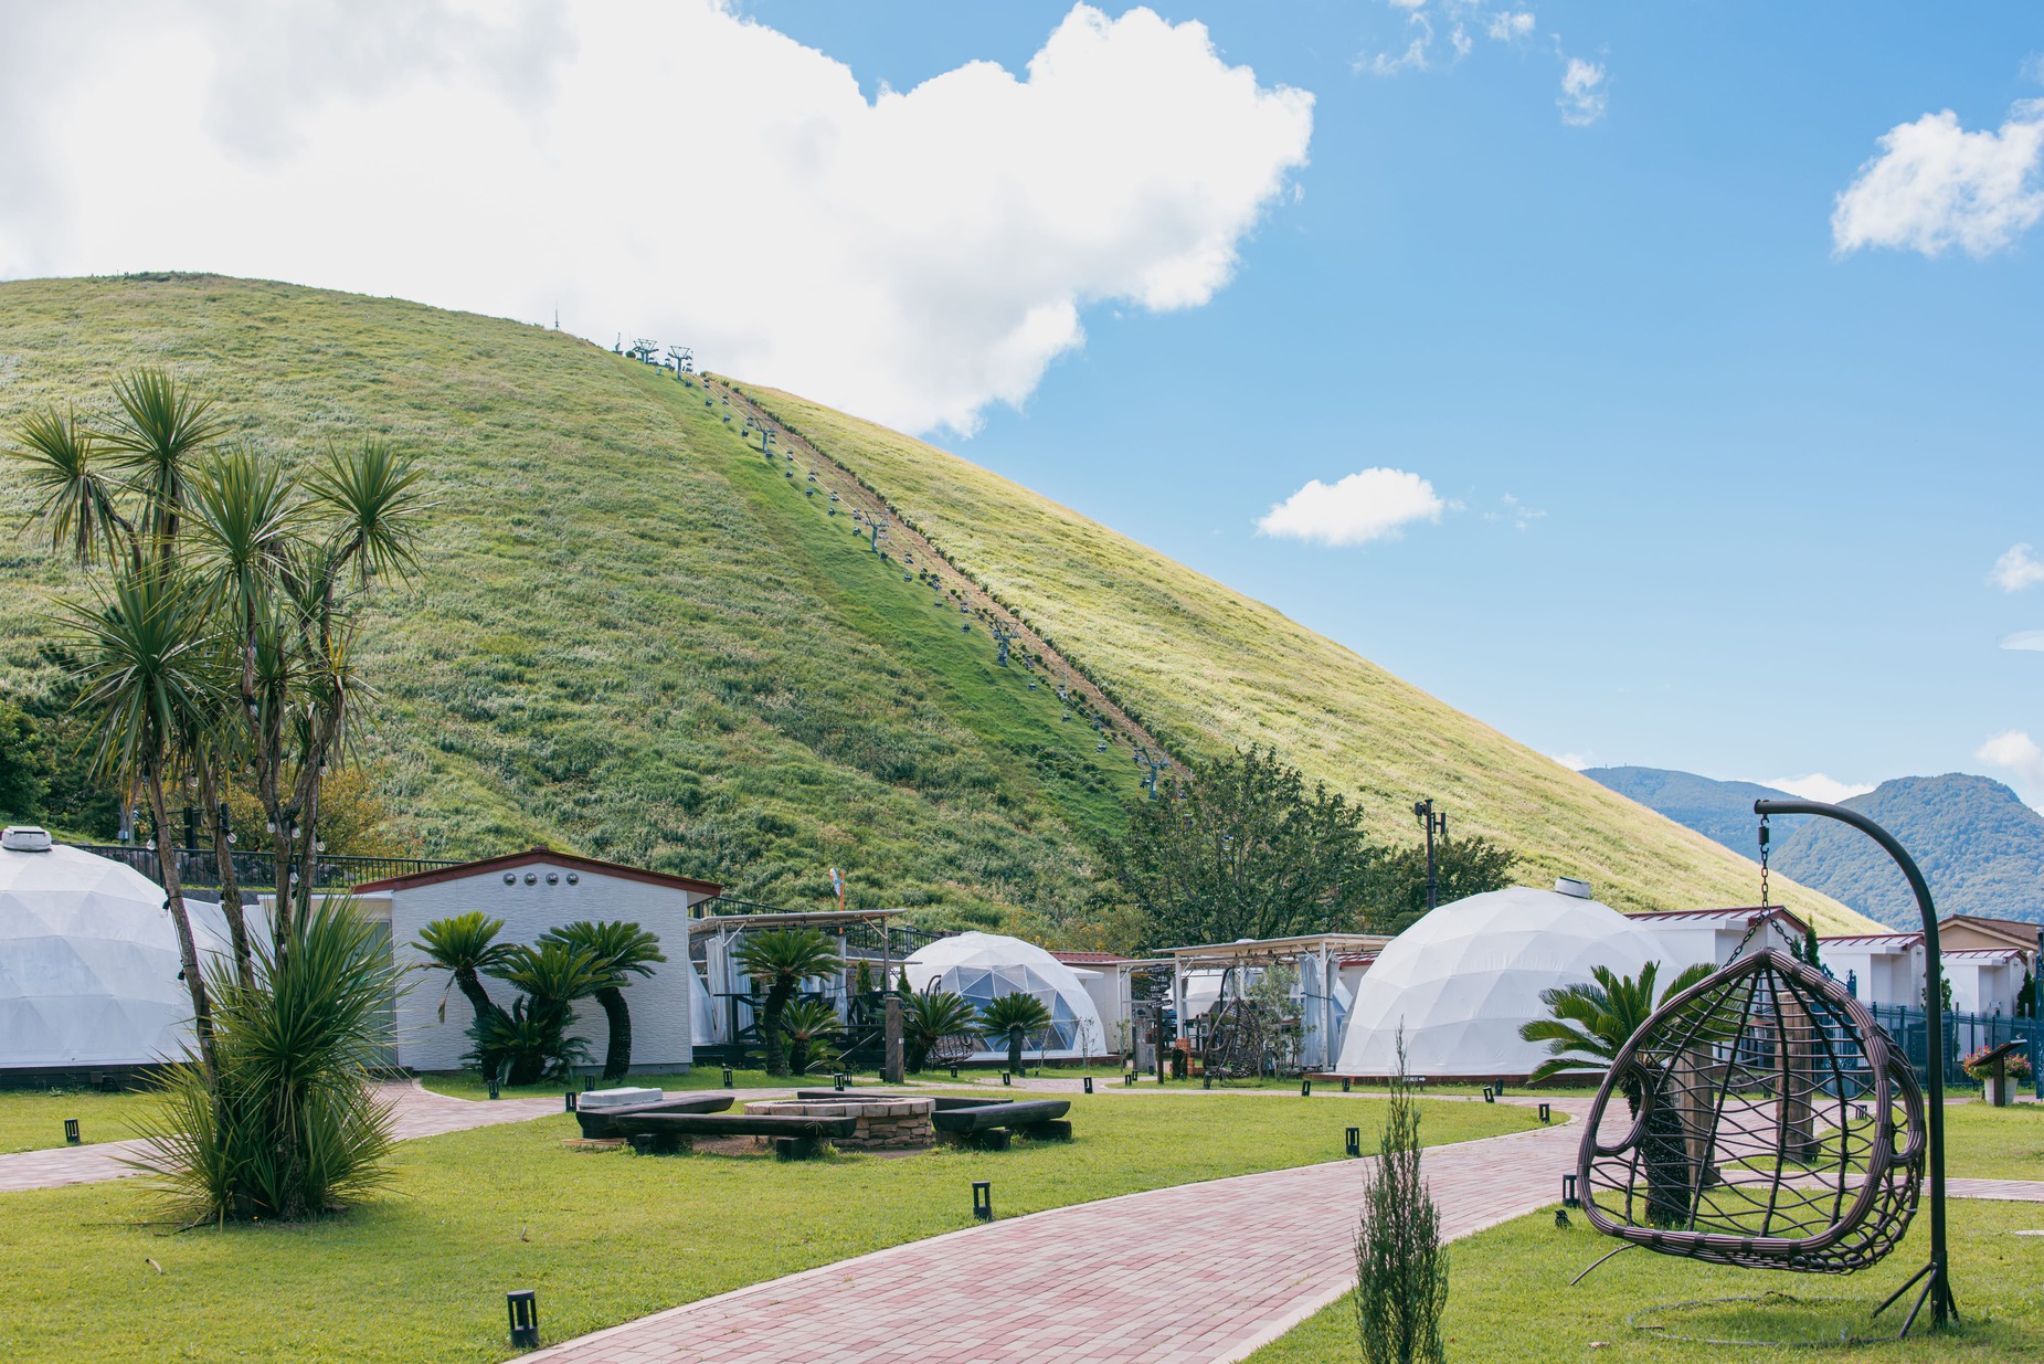
[{"label": "yellowish grass slope of the hill right of the brown track", "polygon": [[[1310,777],[1361,789],[1384,836],[1433,795],[1455,828],[1500,836],[1527,879],[1588,875],[1621,910],[1752,904],[1754,865],[1513,742],[1367,658],[955,454],[791,393],[736,384],[885,493],[963,573],[1083,665],[1167,744],[1271,742]],[[1825,930],[1870,920],[1799,885]]]}]

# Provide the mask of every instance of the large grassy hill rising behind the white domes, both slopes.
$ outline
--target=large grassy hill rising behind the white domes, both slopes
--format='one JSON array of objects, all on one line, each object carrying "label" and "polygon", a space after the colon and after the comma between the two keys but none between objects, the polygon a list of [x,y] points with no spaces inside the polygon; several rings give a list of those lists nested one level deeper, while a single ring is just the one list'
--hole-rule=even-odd
[{"label": "large grassy hill rising behind the white domes, both slopes", "polygon": [[[98,407],[133,364],[202,384],[278,452],[374,434],[433,470],[425,573],[368,661],[368,748],[407,851],[546,840],[791,904],[838,865],[861,904],[1098,937],[1089,847],[1141,800],[1126,751],[1096,753],[1085,712],[1061,720],[1049,685],[993,667],[979,616],[932,609],[922,564],[871,552],[805,464],[748,448],[701,389],[399,301],[0,284],[0,429],[47,401]],[[1437,795],[1457,830],[1523,849],[1529,879],[1590,875],[1621,908],[1752,900],[1741,859],[1278,611],[930,446],[760,397],[1173,751],[1273,740],[1361,787],[1386,836]],[[0,517],[25,513],[0,466]],[[45,591],[74,583],[33,538],[0,540],[0,687],[47,685]]]}]

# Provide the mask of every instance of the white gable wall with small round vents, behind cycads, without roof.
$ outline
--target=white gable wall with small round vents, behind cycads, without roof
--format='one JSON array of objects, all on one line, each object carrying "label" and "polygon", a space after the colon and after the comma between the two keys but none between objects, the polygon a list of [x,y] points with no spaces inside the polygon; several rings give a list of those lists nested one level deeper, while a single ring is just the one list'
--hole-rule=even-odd
[{"label": "white gable wall with small round vents, behind cycads, without roof", "polygon": [[[525,883],[525,873],[536,881]],[[560,879],[548,885],[548,871]],[[411,947],[419,930],[435,918],[450,918],[470,910],[482,910],[491,918],[505,920],[499,943],[533,943],[548,928],[558,928],[580,918],[605,920],[623,918],[660,939],[666,963],[656,965],[646,980],[634,980],[625,988],[625,1006],[632,1010],[632,1070],[687,1070],[693,1061],[691,1045],[691,1000],[689,1000],[689,900],[681,888],[652,885],[625,877],[603,875],[574,867],[576,883],[568,883],[568,867],[554,867],[533,861],[513,871],[511,885],[505,885],[505,871],[486,871],[431,885],[399,888],[390,892],[390,941],[401,965],[423,965],[425,957]],[[460,990],[448,994],[448,1018],[437,1020],[442,992],[448,988],[446,971],[417,971],[411,990],[397,1004],[397,1055],[399,1063],[411,1070],[460,1070],[462,1053],[468,1051],[468,1025],[474,1012]],[[484,980],[484,990],[503,1006],[509,1006],[517,992],[505,982]],[[603,1047],[609,1041],[609,1025],[603,1008],[595,1000],[583,1000],[574,1010],[570,1037],[589,1043],[591,1061],[601,1067]]]}]

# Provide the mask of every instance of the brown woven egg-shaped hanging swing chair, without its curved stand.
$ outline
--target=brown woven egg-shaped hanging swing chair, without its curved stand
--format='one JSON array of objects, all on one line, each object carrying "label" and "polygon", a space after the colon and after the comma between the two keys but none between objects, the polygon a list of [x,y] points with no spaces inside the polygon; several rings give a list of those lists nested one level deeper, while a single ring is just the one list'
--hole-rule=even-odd
[{"label": "brown woven egg-shaped hanging swing chair, without its curved stand", "polygon": [[[1629,1123],[1607,1143],[1615,1098]],[[1766,949],[1664,1004],[1619,1051],[1576,1178],[1605,1235],[1709,1264],[1852,1274],[1909,1229],[1925,1145],[1915,1074],[1866,1006]]]}]

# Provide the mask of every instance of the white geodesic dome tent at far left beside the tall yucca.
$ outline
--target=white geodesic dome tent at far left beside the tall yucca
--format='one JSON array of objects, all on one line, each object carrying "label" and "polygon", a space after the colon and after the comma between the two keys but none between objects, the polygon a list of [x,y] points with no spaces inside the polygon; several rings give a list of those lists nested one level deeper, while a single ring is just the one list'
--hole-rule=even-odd
[{"label": "white geodesic dome tent at far left beside the tall yucca", "polygon": [[[202,957],[223,951],[211,918],[192,906]],[[178,971],[161,885],[63,845],[0,847],[0,1070],[180,1059],[192,996]]]}]

